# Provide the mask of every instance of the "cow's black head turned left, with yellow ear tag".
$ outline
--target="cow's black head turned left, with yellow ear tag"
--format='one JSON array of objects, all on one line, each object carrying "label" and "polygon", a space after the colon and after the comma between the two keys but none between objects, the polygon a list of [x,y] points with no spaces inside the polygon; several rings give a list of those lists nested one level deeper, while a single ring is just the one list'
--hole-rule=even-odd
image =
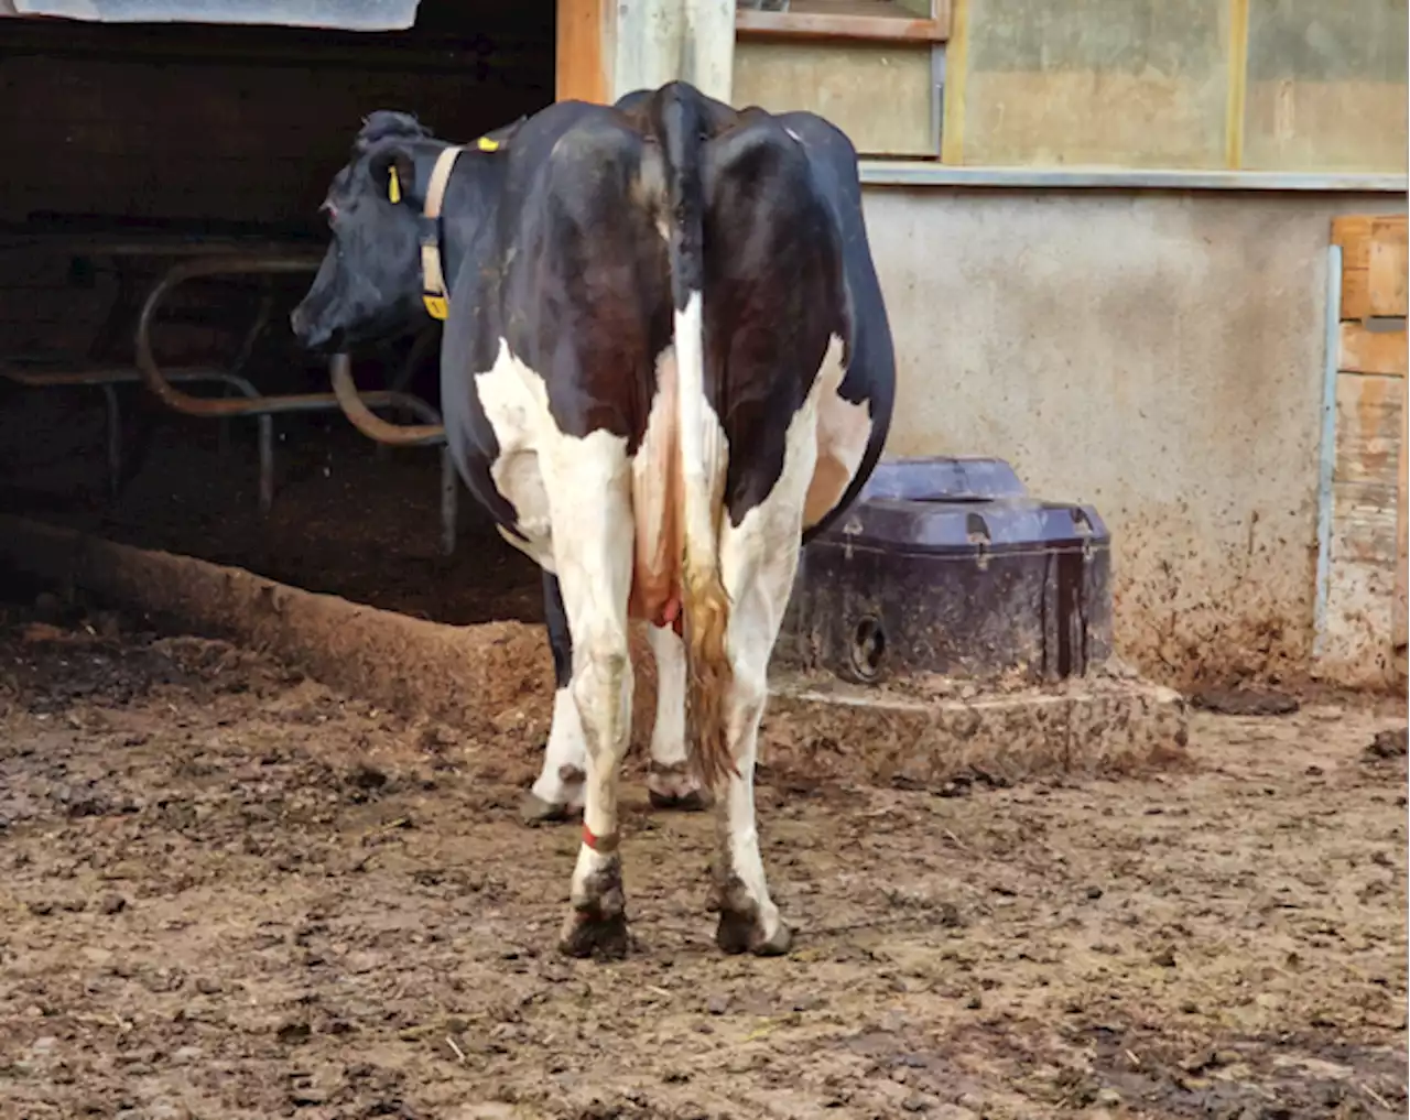
[{"label": "cow's black head turned left, with yellow ear tag", "polygon": [[323,203],[333,242],[290,324],[310,349],[343,349],[426,320],[417,220],[436,141],[405,113],[376,111]]}]

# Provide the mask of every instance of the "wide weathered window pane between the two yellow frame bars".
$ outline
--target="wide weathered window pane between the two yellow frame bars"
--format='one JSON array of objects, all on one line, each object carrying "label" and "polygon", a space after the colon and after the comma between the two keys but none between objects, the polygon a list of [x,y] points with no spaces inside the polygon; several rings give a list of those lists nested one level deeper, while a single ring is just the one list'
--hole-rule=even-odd
[{"label": "wide weathered window pane between the two yellow frame bars", "polygon": [[970,165],[1217,168],[1227,0],[970,0]]}]

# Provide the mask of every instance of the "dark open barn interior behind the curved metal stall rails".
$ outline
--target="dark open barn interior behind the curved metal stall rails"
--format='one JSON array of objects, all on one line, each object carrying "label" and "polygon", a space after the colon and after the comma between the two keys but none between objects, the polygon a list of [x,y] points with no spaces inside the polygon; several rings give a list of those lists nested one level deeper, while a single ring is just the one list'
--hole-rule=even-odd
[{"label": "dark open barn interior behind the curved metal stall rails", "polygon": [[[536,572],[486,533],[464,490],[454,554],[441,555],[436,448],[379,447],[336,410],[276,416],[262,516],[254,417],[183,416],[141,383],[32,380],[135,376],[141,299],[193,242],[321,252],[319,203],[371,110],[413,111],[468,141],[548,104],[553,89],[544,0],[423,0],[402,32],[0,20],[11,154],[0,176],[0,511],[443,621],[537,617]],[[179,286],[155,317],[158,363],[238,368],[262,394],[327,392],[326,365],[288,327],[310,279]],[[268,325],[241,359],[262,301]],[[402,340],[358,355],[360,385],[389,385],[409,349]],[[424,348],[405,387],[439,407],[434,354]]]}]

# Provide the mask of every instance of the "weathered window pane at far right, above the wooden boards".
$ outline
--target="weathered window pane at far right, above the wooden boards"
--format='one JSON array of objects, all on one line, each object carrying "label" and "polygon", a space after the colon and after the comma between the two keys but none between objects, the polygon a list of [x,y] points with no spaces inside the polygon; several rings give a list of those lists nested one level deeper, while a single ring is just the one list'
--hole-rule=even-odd
[{"label": "weathered window pane at far right, above the wooden boards", "polygon": [[1404,0],[1251,0],[1242,162],[1404,170]]}]

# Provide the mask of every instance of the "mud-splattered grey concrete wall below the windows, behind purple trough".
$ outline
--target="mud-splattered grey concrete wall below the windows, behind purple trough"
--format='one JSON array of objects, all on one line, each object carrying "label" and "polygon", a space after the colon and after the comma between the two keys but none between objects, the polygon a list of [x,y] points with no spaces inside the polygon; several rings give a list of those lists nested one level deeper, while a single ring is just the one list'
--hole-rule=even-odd
[{"label": "mud-splattered grey concrete wall below the windows, behind purple trough", "polygon": [[1114,534],[1120,651],[1310,671],[1331,218],[1386,196],[869,189],[888,455],[997,455]]}]

